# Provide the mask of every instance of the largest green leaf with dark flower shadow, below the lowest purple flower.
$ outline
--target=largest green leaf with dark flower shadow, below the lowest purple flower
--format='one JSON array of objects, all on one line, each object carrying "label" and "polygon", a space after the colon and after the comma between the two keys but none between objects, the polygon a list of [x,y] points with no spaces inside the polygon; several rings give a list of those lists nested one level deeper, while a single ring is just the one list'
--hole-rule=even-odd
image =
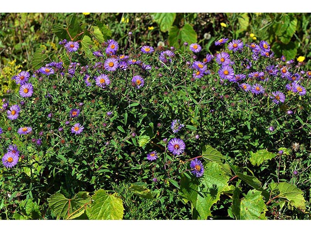
[{"label": "largest green leaf with dark flower shadow, below the lowest purple flower", "polygon": [[190,200],[194,219],[207,219],[211,216],[210,208],[218,200],[220,195],[230,190],[228,185],[229,176],[225,174],[222,167],[217,163],[204,165],[205,173],[201,178],[182,178],[180,194]]}]

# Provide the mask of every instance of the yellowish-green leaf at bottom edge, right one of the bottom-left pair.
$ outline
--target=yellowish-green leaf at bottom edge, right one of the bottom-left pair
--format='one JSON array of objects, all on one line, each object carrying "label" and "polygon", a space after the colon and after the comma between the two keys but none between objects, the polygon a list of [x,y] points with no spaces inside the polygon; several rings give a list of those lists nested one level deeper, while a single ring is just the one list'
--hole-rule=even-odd
[{"label": "yellowish-green leaf at bottom edge, right one of the bottom-left pair", "polygon": [[92,220],[121,220],[123,218],[123,202],[116,194],[107,194],[100,189],[92,196],[92,204],[86,214]]}]

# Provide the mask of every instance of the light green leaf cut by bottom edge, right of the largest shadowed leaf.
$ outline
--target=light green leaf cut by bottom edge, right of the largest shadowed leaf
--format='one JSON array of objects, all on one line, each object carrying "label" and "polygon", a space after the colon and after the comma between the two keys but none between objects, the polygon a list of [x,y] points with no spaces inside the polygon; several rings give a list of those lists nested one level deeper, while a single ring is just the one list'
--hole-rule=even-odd
[{"label": "light green leaf cut by bottom edge, right of the largest shadowed leaf", "polygon": [[242,198],[240,206],[241,220],[266,219],[267,207],[260,191],[255,189],[248,191],[245,198]]}]

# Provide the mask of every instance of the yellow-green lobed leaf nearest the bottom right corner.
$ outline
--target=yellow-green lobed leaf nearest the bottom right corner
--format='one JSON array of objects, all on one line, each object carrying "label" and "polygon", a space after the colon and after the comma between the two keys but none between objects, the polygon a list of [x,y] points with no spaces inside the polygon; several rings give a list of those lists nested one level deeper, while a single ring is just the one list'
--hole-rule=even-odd
[{"label": "yellow-green lobed leaf nearest the bottom right corner", "polygon": [[289,201],[289,204],[298,209],[306,209],[306,200],[303,197],[303,192],[293,184],[282,182],[278,184],[279,198],[284,198]]}]

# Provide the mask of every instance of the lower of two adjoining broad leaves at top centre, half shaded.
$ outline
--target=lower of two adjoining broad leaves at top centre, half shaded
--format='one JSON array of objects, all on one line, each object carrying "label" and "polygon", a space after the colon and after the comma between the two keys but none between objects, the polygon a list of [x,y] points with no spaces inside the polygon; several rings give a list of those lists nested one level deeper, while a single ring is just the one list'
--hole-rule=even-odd
[{"label": "lower of two adjoining broad leaves at top centre, half shaded", "polygon": [[189,44],[196,43],[197,34],[190,24],[185,24],[182,28],[173,26],[169,31],[169,44],[176,49],[180,48],[180,45],[184,42]]}]

